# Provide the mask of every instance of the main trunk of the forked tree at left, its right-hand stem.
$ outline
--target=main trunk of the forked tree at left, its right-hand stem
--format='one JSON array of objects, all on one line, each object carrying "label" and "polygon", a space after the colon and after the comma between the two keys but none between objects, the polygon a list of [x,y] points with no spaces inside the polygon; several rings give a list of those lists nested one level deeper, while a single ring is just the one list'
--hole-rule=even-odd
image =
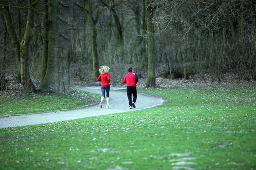
[{"label": "main trunk of the forked tree at left, its right-hand stem", "polygon": [[31,38],[31,29],[33,26],[33,15],[34,11],[32,9],[31,2],[33,0],[28,0],[28,12],[27,12],[27,23],[26,29],[22,41],[20,42],[20,76],[21,85],[24,91],[35,91],[36,87],[32,83],[29,74],[29,42]]}]

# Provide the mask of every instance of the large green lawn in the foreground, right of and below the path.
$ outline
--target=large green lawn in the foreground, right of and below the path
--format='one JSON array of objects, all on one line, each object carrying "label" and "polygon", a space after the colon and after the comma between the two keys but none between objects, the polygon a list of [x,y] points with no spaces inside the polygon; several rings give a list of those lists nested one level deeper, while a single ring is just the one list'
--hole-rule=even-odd
[{"label": "large green lawn in the foreground, right of and below the path", "polygon": [[256,85],[138,91],[168,102],[0,129],[0,170],[256,170]]}]

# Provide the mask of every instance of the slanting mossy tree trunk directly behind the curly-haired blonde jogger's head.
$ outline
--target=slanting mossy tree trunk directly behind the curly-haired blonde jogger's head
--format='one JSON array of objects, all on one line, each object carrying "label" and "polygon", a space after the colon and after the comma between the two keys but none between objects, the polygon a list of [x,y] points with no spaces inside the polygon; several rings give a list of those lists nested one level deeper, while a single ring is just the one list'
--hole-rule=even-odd
[{"label": "slanting mossy tree trunk directly behind the curly-haired blonde jogger's head", "polygon": [[94,18],[93,18],[93,12],[91,10],[90,0],[84,0],[84,3],[85,3],[85,12],[87,14],[87,17],[88,17],[88,20],[89,20],[89,25],[90,25],[92,60],[93,60],[93,74],[94,74],[94,81],[96,81],[98,76],[99,76],[97,32],[96,32],[96,23],[97,23],[97,21],[95,21]]}]

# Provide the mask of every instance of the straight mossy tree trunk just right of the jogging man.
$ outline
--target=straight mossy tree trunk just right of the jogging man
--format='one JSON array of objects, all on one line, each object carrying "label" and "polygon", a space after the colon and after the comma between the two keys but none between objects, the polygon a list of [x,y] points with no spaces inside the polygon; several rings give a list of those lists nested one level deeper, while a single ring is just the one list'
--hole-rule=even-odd
[{"label": "straight mossy tree trunk just right of the jogging man", "polygon": [[153,16],[153,8],[145,0],[146,8],[146,26],[147,26],[147,44],[148,44],[148,79],[146,87],[156,86],[156,55],[154,54],[155,38],[154,25],[151,22]]}]

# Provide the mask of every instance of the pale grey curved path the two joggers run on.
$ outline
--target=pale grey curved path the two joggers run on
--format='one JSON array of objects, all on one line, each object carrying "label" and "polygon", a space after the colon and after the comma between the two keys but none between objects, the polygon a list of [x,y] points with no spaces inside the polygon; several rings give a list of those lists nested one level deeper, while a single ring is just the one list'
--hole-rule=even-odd
[{"label": "pale grey curved path the two joggers run on", "polygon": [[[77,87],[81,90],[88,91],[101,95],[100,86],[96,87]],[[154,107],[164,103],[163,100],[148,96],[144,94],[138,94],[136,108],[129,109],[126,90],[120,90],[125,88],[110,87],[110,108],[106,109],[105,103],[103,107],[99,108],[98,104],[90,105],[84,108],[76,110],[60,110],[47,113],[21,115],[21,116],[9,116],[0,118],[0,128],[26,126],[41,123],[51,123],[63,120],[80,119],[92,116],[107,115],[112,113],[122,113],[129,111],[136,111]],[[100,97],[99,97],[100,98]]]}]

